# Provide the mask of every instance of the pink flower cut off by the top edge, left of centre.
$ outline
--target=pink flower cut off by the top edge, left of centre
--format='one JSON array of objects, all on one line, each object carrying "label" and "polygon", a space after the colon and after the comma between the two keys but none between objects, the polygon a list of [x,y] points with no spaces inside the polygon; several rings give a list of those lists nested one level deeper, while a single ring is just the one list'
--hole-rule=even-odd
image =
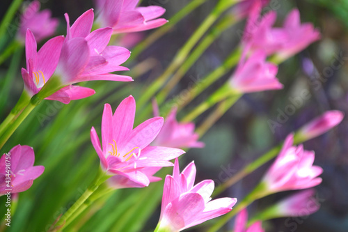
[{"label": "pink flower cut off by the top edge, left of centre", "polygon": [[160,6],[137,7],[139,0],[95,0],[100,26],[110,26],[113,33],[154,29],[167,20],[157,17],[166,10]]}]

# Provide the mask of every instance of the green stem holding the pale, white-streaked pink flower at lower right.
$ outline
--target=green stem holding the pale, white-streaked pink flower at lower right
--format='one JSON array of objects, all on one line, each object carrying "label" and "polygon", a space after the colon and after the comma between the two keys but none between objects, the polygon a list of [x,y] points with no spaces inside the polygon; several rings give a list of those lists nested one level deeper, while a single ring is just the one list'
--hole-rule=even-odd
[{"label": "green stem holding the pale, white-streaked pink flower at lower right", "polygon": [[223,225],[225,225],[232,217],[237,215],[238,212],[242,211],[244,208],[249,206],[254,201],[261,199],[264,196],[267,196],[269,193],[265,191],[265,186],[263,183],[260,183],[258,186],[251,191],[240,203],[237,202],[237,206],[233,208],[230,212],[228,212],[226,215],[223,215],[219,218],[219,220],[211,226],[207,232],[216,232],[218,231]]}]

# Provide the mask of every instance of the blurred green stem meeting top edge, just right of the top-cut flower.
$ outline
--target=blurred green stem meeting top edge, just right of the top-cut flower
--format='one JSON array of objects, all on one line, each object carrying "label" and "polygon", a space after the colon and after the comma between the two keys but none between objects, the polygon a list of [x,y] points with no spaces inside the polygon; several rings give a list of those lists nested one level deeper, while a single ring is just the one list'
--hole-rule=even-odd
[{"label": "blurred green stem meeting top edge, just right of the top-cut flower", "polygon": [[191,13],[194,9],[198,8],[198,6],[205,3],[205,1],[207,0],[193,0],[189,4],[184,6],[184,8],[182,8],[178,13],[171,17],[171,19],[169,19],[169,22],[164,24],[164,26],[161,26],[155,32],[151,33],[150,36],[145,38],[145,40],[136,45],[136,47],[132,49],[132,56],[129,57],[128,61],[134,60],[134,58],[139,56],[139,54],[141,54],[143,50],[148,48],[150,45],[152,45],[152,43],[161,38],[161,36],[164,36],[168,31],[173,29],[177,22],[180,22],[183,17]]}]

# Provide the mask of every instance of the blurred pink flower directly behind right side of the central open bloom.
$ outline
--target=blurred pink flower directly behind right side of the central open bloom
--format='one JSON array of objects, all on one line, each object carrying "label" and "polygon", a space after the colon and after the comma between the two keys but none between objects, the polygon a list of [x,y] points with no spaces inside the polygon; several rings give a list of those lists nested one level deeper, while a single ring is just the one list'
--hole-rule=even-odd
[{"label": "blurred pink flower directly behind right side of the central open bloom", "polygon": [[[155,116],[159,116],[157,103],[152,104]],[[203,142],[197,141],[199,135],[194,132],[194,123],[179,123],[176,120],[177,109],[173,108],[171,113],[164,119],[164,125],[153,141],[155,146],[169,146],[174,148],[202,148]]]}]

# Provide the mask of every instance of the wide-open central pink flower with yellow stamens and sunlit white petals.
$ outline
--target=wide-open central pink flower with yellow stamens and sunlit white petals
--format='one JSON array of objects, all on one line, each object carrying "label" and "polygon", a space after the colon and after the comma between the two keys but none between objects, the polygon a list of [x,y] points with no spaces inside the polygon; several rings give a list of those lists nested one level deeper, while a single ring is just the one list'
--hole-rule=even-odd
[{"label": "wide-open central pink flower with yellow stamens and sunlit white petals", "polygon": [[[132,95],[120,103],[114,114],[111,106],[106,104],[102,116],[102,146],[94,127],[90,130],[90,139],[100,157],[102,170],[109,176],[120,175],[129,179],[118,178],[118,185],[145,187],[149,185],[151,171],[154,170],[144,168],[173,166],[169,160],[182,155],[184,151],[149,146],[161,130],[164,120],[161,117],[150,118],[133,129],[135,109]],[[112,179],[111,182],[116,185]]]}]

